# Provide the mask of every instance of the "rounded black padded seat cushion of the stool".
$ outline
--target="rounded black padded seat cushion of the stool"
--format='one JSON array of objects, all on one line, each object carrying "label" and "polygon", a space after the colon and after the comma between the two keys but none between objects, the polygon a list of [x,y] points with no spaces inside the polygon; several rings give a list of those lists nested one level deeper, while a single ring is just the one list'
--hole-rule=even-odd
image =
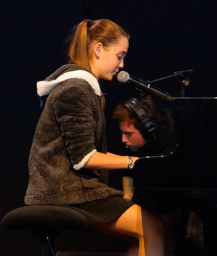
[{"label": "rounded black padded seat cushion of the stool", "polygon": [[8,212],[1,221],[6,229],[86,229],[87,218],[78,210],[56,205],[28,205]]}]

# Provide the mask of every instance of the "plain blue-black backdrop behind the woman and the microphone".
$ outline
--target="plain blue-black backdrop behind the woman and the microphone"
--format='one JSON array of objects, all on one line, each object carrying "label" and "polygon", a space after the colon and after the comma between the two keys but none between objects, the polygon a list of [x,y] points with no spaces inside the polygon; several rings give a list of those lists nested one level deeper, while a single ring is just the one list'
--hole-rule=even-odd
[{"label": "plain blue-black backdrop behind the woman and the microphone", "polygon": [[[0,218],[23,205],[28,184],[28,154],[41,110],[36,82],[66,63],[64,40],[83,19],[107,18],[131,34],[124,71],[144,80],[193,69],[186,97],[216,96],[216,1],[1,1],[1,171]],[[107,93],[108,151],[121,154],[120,131],[112,119],[116,104],[137,96],[130,85],[103,81]],[[172,96],[181,92],[179,79],[155,84]],[[154,96],[156,104],[168,106]],[[110,185],[120,187],[120,174],[109,175]],[[59,238],[78,246],[83,238],[65,232]],[[124,243],[86,241],[90,250],[125,250]],[[70,245],[69,245],[70,244]],[[0,255],[39,255],[40,241],[29,230],[0,228]],[[83,245],[84,246],[84,245]],[[80,249],[80,248],[79,248]],[[85,248],[84,248],[85,249]]]}]

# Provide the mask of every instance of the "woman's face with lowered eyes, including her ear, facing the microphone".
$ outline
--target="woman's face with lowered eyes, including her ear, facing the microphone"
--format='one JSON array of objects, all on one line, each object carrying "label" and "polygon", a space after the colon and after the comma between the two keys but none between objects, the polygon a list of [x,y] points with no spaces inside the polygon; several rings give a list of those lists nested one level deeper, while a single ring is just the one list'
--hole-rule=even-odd
[{"label": "woman's face with lowered eyes, including her ear, facing the microphone", "polygon": [[126,56],[129,42],[125,36],[121,36],[118,44],[104,48],[101,43],[98,43],[98,48],[95,48],[96,58],[91,65],[92,72],[97,80],[112,80],[120,68],[124,67],[124,57]]}]

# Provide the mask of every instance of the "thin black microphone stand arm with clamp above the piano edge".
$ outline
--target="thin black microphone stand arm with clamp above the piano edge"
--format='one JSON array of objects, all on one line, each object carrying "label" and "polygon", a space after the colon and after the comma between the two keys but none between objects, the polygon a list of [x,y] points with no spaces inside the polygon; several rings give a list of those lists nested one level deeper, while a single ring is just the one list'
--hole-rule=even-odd
[{"label": "thin black microphone stand arm with clamp above the piano edge", "polygon": [[155,82],[160,82],[166,79],[171,79],[173,77],[180,77],[181,78],[181,97],[185,96],[185,86],[189,85],[189,77],[186,77],[186,73],[192,73],[193,69],[188,69],[188,70],[182,70],[182,71],[176,71],[174,72],[174,75],[170,75],[170,76],[165,76],[165,77],[161,77],[159,79],[155,79],[152,81],[144,81],[142,79],[139,79],[142,82],[145,82],[146,84],[154,84]]}]

